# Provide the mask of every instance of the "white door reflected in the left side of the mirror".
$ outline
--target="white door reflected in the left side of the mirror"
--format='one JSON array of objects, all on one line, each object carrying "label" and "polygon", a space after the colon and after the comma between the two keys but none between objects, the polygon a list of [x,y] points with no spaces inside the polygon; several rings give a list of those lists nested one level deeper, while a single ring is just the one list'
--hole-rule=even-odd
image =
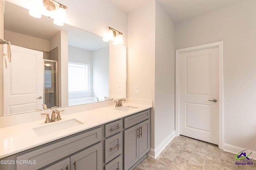
[{"label": "white door reflected in the left side of the mirror", "polygon": [[4,115],[41,109],[43,52],[15,45],[11,52],[12,62],[4,68]]}]

